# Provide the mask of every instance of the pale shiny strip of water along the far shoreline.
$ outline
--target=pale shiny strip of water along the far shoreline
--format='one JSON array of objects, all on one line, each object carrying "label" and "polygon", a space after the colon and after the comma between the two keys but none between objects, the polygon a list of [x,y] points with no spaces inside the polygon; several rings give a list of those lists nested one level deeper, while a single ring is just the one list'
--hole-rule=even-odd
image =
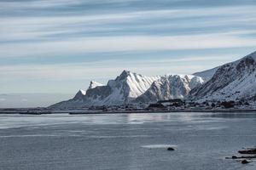
[{"label": "pale shiny strip of water along the far shoreline", "polygon": [[[220,119],[221,118],[221,119]],[[134,124],[151,122],[209,123],[225,122],[225,119],[256,118],[255,113],[139,113],[103,115],[53,114],[41,116],[0,115],[0,128],[37,127],[58,124]]]}]

